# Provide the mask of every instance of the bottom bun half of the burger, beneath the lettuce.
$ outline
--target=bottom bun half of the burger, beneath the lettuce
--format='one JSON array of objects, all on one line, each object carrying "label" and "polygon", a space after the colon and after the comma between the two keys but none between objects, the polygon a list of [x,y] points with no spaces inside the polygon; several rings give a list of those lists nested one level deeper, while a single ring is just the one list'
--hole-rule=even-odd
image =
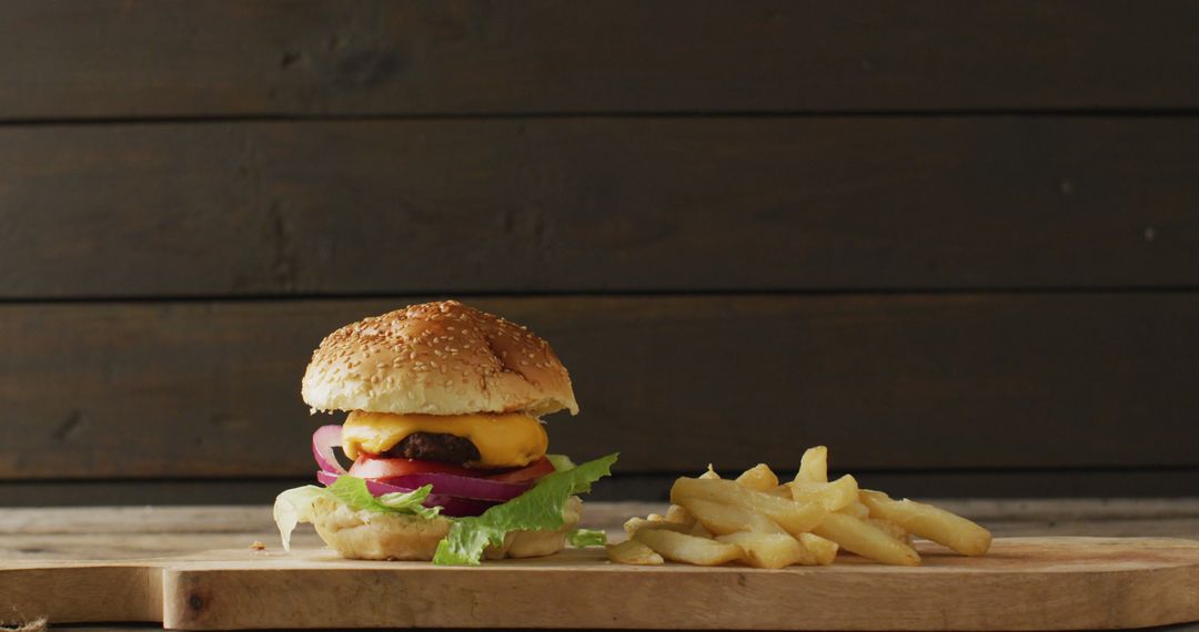
[{"label": "bottom bun half of the burger, beneath the lettuce", "polygon": [[[556,531],[511,533],[502,547],[489,547],[487,559],[537,558],[553,555],[566,546],[566,534],[579,522],[583,502],[571,497],[566,504],[566,524]],[[320,498],[313,504],[317,534],[339,555],[348,559],[432,560],[438,542],[450,533],[445,518],[423,519],[398,514],[354,511],[345,505]]]}]

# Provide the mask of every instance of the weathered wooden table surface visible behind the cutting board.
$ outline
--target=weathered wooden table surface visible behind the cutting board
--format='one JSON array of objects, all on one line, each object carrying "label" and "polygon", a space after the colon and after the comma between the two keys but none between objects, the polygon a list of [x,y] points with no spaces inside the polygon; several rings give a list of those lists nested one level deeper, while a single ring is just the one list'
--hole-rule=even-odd
[{"label": "weathered wooden table surface visible behind the cutting board", "polygon": [[[1199,498],[935,500],[987,525],[996,536],[1177,536],[1199,540]],[[590,503],[583,525],[621,537],[629,516],[663,511],[652,503]],[[5,509],[0,511],[0,559],[133,559],[255,541],[282,552],[269,506],[122,506]],[[321,546],[308,525],[295,546]],[[53,624],[53,622],[52,622]],[[58,628],[58,626],[54,626]],[[68,626],[72,630],[147,630],[145,625]],[[149,628],[153,628],[150,626]],[[1170,630],[1199,631],[1199,626]]]}]

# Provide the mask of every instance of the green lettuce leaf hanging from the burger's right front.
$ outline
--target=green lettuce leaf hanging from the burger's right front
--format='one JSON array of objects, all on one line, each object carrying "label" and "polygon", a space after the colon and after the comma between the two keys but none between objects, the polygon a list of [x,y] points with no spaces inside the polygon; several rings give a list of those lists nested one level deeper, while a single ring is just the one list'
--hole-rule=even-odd
[{"label": "green lettuce leaf hanging from the burger's right front", "polygon": [[504,536],[510,531],[561,529],[566,500],[591,491],[592,482],[611,474],[617,456],[610,454],[547,474],[528,492],[488,509],[482,516],[456,518],[450,534],[438,545],[433,564],[475,566],[483,549],[488,545],[504,545]]}]

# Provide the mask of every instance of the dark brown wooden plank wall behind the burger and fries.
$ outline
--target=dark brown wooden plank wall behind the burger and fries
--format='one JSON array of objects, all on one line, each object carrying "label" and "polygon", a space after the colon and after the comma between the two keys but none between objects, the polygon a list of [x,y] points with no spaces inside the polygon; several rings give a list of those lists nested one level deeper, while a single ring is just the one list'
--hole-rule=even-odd
[{"label": "dark brown wooden plank wall behind the burger and fries", "polygon": [[1199,484],[1191,2],[0,6],[0,503],[261,502],[321,335],[465,297],[623,452]]}]

